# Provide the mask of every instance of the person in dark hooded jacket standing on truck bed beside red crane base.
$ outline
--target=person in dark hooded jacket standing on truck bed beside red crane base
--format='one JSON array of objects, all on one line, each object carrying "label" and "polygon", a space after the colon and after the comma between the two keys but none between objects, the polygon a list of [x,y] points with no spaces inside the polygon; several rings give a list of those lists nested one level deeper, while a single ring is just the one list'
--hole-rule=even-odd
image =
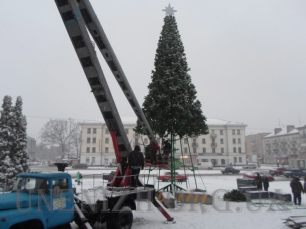
[{"label": "person in dark hooded jacket standing on truck bed beside red crane base", "polygon": [[139,182],[138,176],[140,169],[144,169],[144,155],[140,151],[139,145],[136,145],[134,150],[129,154],[129,167],[132,170],[131,186],[136,187]]}]

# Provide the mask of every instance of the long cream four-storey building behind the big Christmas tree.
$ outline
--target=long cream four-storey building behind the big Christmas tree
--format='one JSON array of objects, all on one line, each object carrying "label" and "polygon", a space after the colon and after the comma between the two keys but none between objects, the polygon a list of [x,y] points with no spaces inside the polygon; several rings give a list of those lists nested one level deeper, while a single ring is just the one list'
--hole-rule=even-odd
[{"label": "long cream four-storey building behind the big Christmas tree", "polygon": [[[116,157],[112,139],[104,122],[82,122],[80,163],[94,166],[116,165]],[[190,155],[197,162],[212,162],[215,165],[245,165],[245,128],[247,125],[229,122],[218,118],[207,118],[210,134],[183,138],[174,141],[175,157]],[[136,134],[133,128],[136,119],[123,121],[123,126],[132,149],[139,144],[142,151],[149,143],[147,136]],[[161,139],[157,138],[161,145]],[[190,149],[190,153],[189,153]],[[187,165],[189,166],[189,165]]]}]

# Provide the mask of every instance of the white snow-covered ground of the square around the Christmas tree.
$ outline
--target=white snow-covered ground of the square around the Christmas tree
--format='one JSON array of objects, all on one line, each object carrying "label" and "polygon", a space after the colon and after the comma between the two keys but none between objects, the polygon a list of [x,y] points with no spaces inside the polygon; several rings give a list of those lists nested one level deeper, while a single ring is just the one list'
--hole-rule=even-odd
[{"label": "white snow-covered ground of the square around the Christmas tree", "polygon": [[[260,169],[269,169],[271,166],[264,167]],[[76,172],[80,171],[83,175],[83,189],[90,188],[93,185],[93,176],[84,176],[90,174],[101,174],[109,173],[111,170],[101,167],[101,170],[95,169],[70,169],[68,172],[72,176],[76,176]],[[287,208],[283,209],[279,205],[272,204],[271,201],[263,201],[268,204],[264,205],[249,205],[245,202],[227,202],[223,201],[222,197],[225,192],[232,189],[237,189],[238,177],[242,177],[244,173],[250,170],[241,169],[239,175],[233,174],[221,174],[220,169],[216,168],[211,171],[208,170],[198,170],[196,171],[196,182],[193,173],[188,171],[188,188],[197,187],[200,189],[207,190],[208,193],[213,194],[214,203],[212,205],[203,204],[183,204],[178,203],[177,208],[168,209],[171,215],[174,217],[174,222],[167,222],[166,218],[156,209],[148,207],[148,203],[141,202],[141,208],[133,211],[133,225],[132,228],[146,228],[146,229],[157,229],[157,228],[253,228],[262,225],[261,227],[266,228],[288,228],[284,222],[284,218],[288,216],[301,216],[305,215],[306,197],[305,194],[302,195],[301,206],[288,205]],[[115,170],[115,169],[113,169]],[[166,170],[161,170],[161,173]],[[140,174],[148,174],[148,170],[142,170]],[[149,184],[155,184],[155,188],[170,184],[169,182],[160,182],[155,179],[158,175],[158,170],[151,171],[151,176],[149,178]],[[177,170],[180,174],[184,173],[184,170]],[[267,173],[267,172],[266,172]],[[95,186],[103,185],[103,180],[100,176],[95,175]],[[75,178],[73,178],[73,181]],[[147,179],[146,179],[147,180]],[[304,181],[301,182],[303,184]],[[280,189],[284,193],[291,193],[291,188],[289,187],[290,179],[285,179],[284,177],[277,177],[274,182],[270,182],[269,191],[274,191],[274,189]],[[74,184],[76,184],[74,182]],[[106,185],[106,181],[104,181]],[[182,184],[181,187],[186,188],[186,184]],[[81,186],[76,185],[77,192],[80,190]],[[73,224],[74,228],[77,228]],[[106,228],[105,224],[95,224],[94,228]]]}]

